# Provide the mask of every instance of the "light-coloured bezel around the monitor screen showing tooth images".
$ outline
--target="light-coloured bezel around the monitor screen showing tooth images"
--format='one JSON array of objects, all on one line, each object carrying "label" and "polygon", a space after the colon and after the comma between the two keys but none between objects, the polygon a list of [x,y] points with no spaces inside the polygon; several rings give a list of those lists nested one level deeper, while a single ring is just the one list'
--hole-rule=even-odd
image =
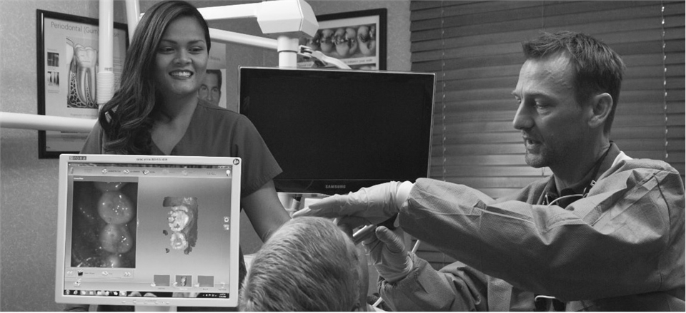
[{"label": "light-coloured bezel around the monitor screen showing tooth images", "polygon": [[[229,295],[226,298],[190,297],[106,297],[97,295],[64,294],[66,270],[66,239],[68,225],[69,163],[122,163],[141,165],[231,165],[232,188],[230,203],[230,242],[232,256],[229,266]],[[237,307],[239,297],[239,233],[242,160],[229,157],[197,157],[180,155],[82,155],[61,154],[59,157],[59,186],[56,234],[55,301],[63,304],[109,304],[143,307]]]}]

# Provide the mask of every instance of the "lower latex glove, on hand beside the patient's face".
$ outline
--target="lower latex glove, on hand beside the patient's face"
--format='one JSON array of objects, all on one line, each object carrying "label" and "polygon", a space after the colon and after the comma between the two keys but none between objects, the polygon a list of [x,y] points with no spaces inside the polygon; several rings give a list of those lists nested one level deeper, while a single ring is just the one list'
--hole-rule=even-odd
[{"label": "lower latex glove, on hand beside the patient's face", "polygon": [[396,228],[392,231],[379,226],[374,236],[364,240],[362,245],[367,249],[369,259],[372,260],[379,276],[384,277],[387,282],[397,282],[412,272],[414,262],[403,242],[402,229]]}]

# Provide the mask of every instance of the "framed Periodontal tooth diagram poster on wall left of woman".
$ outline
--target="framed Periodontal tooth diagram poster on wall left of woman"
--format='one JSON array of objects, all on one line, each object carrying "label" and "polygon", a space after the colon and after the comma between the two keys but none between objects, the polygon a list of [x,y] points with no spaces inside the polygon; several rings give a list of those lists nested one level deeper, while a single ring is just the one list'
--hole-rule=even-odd
[{"label": "framed Periodontal tooth diagram poster on wall left of woman", "polygon": [[[99,21],[81,16],[36,10],[38,51],[38,113],[45,116],[98,116],[96,84],[99,71]],[[119,88],[128,33],[114,23],[114,90]],[[78,153],[88,133],[39,130],[39,158]]]}]

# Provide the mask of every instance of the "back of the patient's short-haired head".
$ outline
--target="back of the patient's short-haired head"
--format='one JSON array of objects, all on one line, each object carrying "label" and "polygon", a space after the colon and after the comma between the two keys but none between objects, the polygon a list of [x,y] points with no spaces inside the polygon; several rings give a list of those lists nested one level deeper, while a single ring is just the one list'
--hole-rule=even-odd
[{"label": "back of the patient's short-haired head", "polygon": [[321,217],[295,218],[255,255],[239,308],[352,311],[360,304],[359,275],[357,249],[348,235]]}]

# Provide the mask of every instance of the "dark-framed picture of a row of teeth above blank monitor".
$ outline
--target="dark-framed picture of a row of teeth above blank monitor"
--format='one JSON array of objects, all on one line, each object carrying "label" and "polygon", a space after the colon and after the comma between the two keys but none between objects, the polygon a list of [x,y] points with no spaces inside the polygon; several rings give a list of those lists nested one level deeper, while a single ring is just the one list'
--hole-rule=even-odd
[{"label": "dark-framed picture of a row of teeth above blank monitor", "polygon": [[[301,45],[353,69],[386,69],[386,9],[318,15],[317,22],[317,34],[300,39]],[[300,58],[298,67],[319,67],[319,63]]]}]

